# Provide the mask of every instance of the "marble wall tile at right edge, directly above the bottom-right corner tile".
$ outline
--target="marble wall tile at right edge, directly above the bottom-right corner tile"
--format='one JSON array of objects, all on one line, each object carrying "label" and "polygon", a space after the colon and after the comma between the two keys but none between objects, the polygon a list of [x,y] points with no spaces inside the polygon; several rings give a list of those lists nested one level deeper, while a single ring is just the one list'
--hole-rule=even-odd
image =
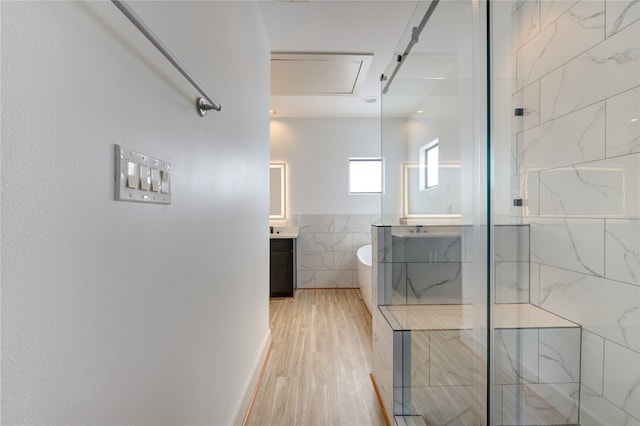
[{"label": "marble wall tile at right edge, directly above the bottom-right corner tile", "polygon": [[640,418],[640,353],[605,341],[603,396]]}]

